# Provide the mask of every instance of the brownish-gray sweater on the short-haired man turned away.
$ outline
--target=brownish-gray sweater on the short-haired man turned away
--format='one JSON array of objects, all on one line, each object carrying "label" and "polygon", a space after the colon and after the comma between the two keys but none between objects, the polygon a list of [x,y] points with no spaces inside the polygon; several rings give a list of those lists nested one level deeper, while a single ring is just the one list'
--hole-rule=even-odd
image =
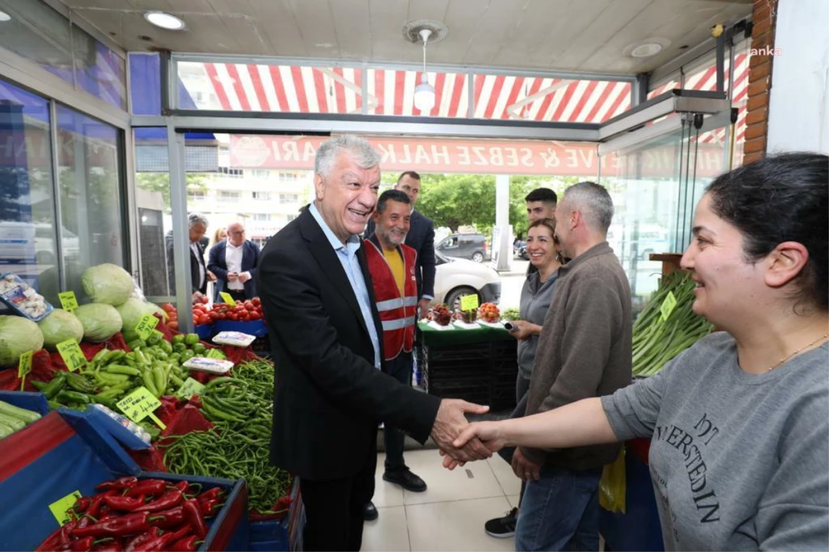
[{"label": "brownish-gray sweater on the short-haired man turned away", "polygon": [[[631,326],[628,277],[607,242],[562,266],[538,340],[526,414],[627,386]],[[584,470],[613,462],[619,445],[521,450],[536,463]]]}]

